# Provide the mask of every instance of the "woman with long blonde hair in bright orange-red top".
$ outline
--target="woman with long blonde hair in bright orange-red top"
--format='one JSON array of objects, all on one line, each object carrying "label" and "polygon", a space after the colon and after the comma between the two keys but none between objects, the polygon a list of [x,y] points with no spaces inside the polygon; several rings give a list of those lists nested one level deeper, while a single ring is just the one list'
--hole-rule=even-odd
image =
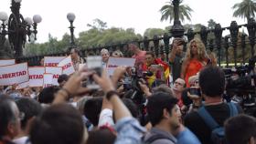
[{"label": "woman with long blonde hair in bright orange-red top", "polygon": [[196,75],[210,61],[203,42],[198,38],[192,39],[187,45],[186,57],[182,63],[180,76],[185,79],[187,87],[189,87],[188,78]]}]

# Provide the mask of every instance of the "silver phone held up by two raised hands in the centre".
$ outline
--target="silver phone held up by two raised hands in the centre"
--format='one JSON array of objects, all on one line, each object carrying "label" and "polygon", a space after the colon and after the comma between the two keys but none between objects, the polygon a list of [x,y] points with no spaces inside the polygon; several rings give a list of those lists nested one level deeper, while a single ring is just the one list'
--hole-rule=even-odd
[{"label": "silver phone held up by two raised hands in the centre", "polygon": [[[101,77],[102,72],[102,57],[87,57],[87,68],[89,71],[94,71],[98,76]],[[87,87],[91,89],[98,89],[100,86],[93,80],[92,77],[89,77],[87,80]]]}]

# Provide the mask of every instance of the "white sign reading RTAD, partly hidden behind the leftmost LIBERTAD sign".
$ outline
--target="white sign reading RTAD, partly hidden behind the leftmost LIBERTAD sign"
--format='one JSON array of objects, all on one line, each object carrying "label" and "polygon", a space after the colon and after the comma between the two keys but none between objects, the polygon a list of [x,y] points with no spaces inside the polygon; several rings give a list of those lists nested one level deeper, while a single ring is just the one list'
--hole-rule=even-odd
[{"label": "white sign reading RTAD, partly hidden behind the leftmost LIBERTAD sign", "polygon": [[45,67],[28,67],[29,87],[43,87]]}]

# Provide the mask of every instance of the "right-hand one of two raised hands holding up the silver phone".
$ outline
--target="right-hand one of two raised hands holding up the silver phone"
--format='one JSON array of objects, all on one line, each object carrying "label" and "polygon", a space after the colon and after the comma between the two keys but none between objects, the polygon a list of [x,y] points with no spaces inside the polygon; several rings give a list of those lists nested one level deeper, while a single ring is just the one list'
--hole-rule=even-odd
[{"label": "right-hand one of two raised hands holding up the silver phone", "polygon": [[97,82],[99,86],[101,86],[102,90],[107,93],[111,90],[115,90],[112,80],[107,76],[105,69],[102,71],[101,77],[96,74],[93,74],[93,79]]}]

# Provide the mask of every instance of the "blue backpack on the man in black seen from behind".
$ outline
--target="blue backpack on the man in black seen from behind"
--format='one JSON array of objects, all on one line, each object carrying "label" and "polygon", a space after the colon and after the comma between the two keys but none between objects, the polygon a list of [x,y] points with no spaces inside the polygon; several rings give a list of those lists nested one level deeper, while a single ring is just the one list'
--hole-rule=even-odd
[{"label": "blue backpack on the man in black seen from behind", "polygon": [[[229,118],[239,114],[238,108],[234,103],[228,103],[229,105]],[[211,129],[211,142],[213,144],[225,144],[225,130],[220,127],[219,124],[210,116],[207,109],[203,106],[198,109],[198,115],[205,121],[208,127]]]}]

